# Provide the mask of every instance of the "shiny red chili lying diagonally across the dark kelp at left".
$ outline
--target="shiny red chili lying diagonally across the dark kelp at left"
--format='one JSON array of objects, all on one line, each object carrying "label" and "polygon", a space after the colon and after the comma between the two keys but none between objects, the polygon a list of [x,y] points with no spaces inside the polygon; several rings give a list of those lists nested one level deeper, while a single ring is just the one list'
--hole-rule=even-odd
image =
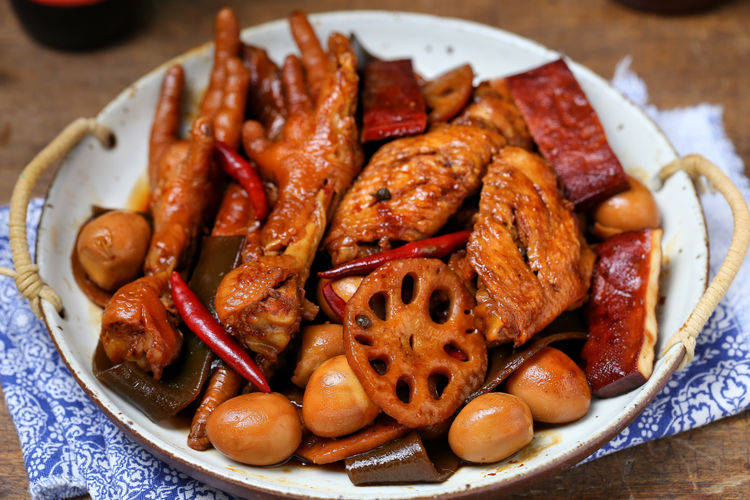
[{"label": "shiny red chili lying diagonally across the dark kelp at left", "polygon": [[252,382],[255,387],[263,392],[271,392],[271,387],[258,365],[211,316],[198,296],[187,286],[180,273],[173,272],[169,281],[172,285],[172,300],[187,327],[226,364]]}]

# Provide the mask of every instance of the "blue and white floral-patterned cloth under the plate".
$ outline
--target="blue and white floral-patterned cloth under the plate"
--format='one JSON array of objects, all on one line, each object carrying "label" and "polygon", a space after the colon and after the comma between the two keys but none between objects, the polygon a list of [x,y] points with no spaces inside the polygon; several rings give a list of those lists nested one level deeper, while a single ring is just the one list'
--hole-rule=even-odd
[{"label": "blue and white floral-patterned cloth under the plate", "polygon": [[[647,105],[643,82],[618,65],[614,84],[667,133],[680,154],[701,153],[720,165],[750,199],[743,165],[722,127],[718,106],[659,111]],[[704,195],[711,235],[711,270],[725,254],[731,218],[723,201]],[[41,200],[28,217],[33,240]],[[8,209],[0,209],[0,265],[11,266]],[[33,245],[32,245],[33,248]],[[705,425],[750,406],[750,276],[745,265],[698,339],[695,359],[675,374],[651,405],[589,459]],[[0,381],[18,429],[31,495],[95,499],[226,498],[133,443],[88,399],[55,350],[44,325],[0,277]]]}]

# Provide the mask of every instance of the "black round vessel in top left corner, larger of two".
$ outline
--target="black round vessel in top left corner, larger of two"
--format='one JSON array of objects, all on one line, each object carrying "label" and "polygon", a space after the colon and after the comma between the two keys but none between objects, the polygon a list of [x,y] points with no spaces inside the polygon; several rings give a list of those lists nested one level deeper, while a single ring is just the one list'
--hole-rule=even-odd
[{"label": "black round vessel in top left corner, larger of two", "polygon": [[130,33],[142,0],[11,0],[24,30],[66,50],[93,49]]}]

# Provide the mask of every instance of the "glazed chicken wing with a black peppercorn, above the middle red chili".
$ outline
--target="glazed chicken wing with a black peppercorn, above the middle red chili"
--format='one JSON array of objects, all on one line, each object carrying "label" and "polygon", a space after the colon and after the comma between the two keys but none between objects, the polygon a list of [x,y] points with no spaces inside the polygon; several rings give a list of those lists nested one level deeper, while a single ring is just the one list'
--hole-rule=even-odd
[{"label": "glazed chicken wing with a black peppercorn, above the middle red chili", "polygon": [[381,147],[333,217],[324,244],[334,265],[434,235],[503,144],[482,127],[443,125]]}]

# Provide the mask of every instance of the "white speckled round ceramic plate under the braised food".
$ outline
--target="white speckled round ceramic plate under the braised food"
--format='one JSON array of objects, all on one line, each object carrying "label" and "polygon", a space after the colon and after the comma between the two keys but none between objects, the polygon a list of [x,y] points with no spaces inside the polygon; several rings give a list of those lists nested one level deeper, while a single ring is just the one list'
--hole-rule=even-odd
[{"label": "white speckled round ceramic plate under the braised food", "polygon": [[[334,12],[311,16],[321,39],[331,31],[354,32],[384,58],[410,57],[426,77],[469,62],[477,81],[517,73],[560,57],[519,36],[455,19],[395,12]],[[296,50],[285,20],[248,28],[245,42],[265,47],[281,61]],[[184,65],[189,101],[205,86],[212,46],[199,47],[174,62]],[[599,113],[610,144],[626,170],[652,181],[675,152],[657,127],[633,104],[586,68],[569,61]],[[582,420],[537,432],[532,443],[502,462],[462,467],[442,484],[353,486],[346,474],[317,467],[285,465],[254,468],[231,462],[215,450],[188,448],[187,431],[150,421],[135,407],[100,384],[91,372],[99,336],[99,310],[79,291],[69,257],[76,232],[91,205],[122,207],[146,169],[146,152],[154,105],[166,65],[138,80],[98,116],[117,137],[105,151],[93,139],[82,141],[66,158],[47,196],[37,243],[37,262],[45,282],[57,290],[66,315],[44,304],[46,322],[60,354],[90,397],[127,433],[156,456],[191,476],[238,495],[414,498],[480,495],[517,486],[542,474],[571,466],[604,445],[629,423],[664,386],[682,358],[682,346],[659,356],[650,380],[619,397],[595,400]],[[189,113],[188,113],[189,114]],[[184,127],[189,117],[184,120]],[[651,182],[652,187],[653,182]],[[664,272],[658,310],[661,352],[664,339],[687,319],[706,285],[707,242],[695,190],[684,173],[672,176],[656,192],[664,222]]]}]

